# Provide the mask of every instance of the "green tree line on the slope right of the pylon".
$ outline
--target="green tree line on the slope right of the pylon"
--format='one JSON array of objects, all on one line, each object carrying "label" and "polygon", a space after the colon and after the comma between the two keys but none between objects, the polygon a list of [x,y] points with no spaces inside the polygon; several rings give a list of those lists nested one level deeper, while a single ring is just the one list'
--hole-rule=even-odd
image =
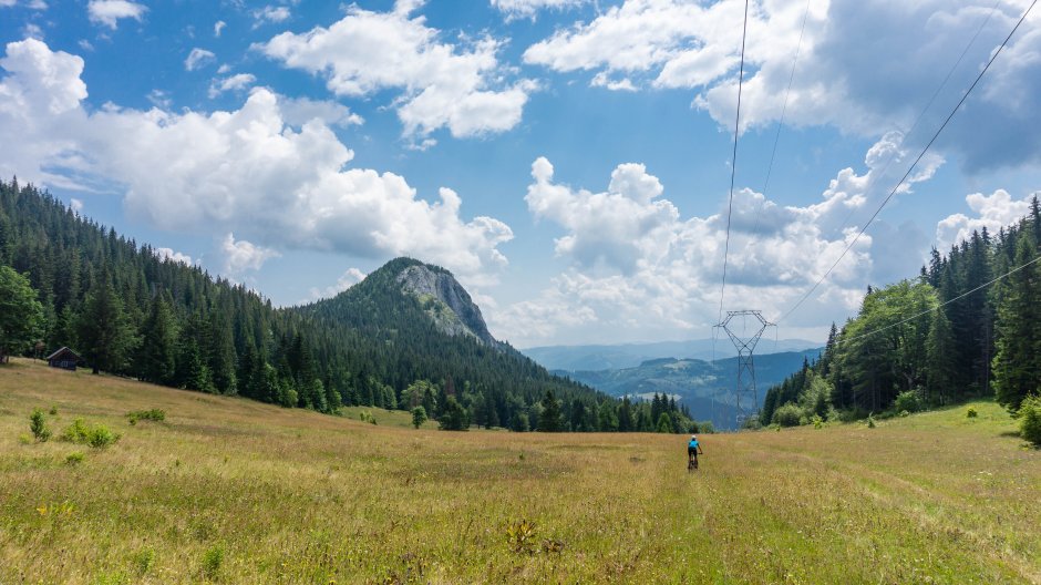
[{"label": "green tree line on the slope right of the pylon", "polygon": [[[1041,249],[1038,197],[1019,223],[987,228],[917,278],[868,287],[857,316],[832,325],[814,363],[771,388],[754,423],[860,419],[994,397],[1017,412],[1041,394]],[[1021,267],[987,286],[996,277]]]}]

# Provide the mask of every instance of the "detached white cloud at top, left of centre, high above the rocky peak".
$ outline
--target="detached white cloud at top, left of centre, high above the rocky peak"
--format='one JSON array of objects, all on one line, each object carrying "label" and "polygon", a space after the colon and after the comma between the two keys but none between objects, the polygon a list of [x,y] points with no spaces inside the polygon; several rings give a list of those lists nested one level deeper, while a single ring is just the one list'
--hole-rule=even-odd
[{"label": "detached white cloud at top, left of centre, high above the rocky peak", "polygon": [[516,126],[535,82],[502,80],[508,71],[496,58],[499,41],[442,42],[440,31],[412,16],[415,8],[399,2],[391,12],[372,12],[352,6],[329,28],[284,32],[259,49],[286,66],[324,78],[337,95],[399,91],[393,106],[404,135],[420,142],[442,127],[461,137]]}]

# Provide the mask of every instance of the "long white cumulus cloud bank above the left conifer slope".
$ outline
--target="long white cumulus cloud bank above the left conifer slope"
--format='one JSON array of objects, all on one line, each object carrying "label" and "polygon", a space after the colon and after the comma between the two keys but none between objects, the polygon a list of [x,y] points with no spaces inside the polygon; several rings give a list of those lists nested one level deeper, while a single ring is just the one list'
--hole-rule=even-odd
[{"label": "long white cumulus cloud bank above the left conifer slope", "polygon": [[29,39],[8,44],[0,66],[0,134],[20,136],[0,141],[3,176],[104,181],[125,193],[127,213],[164,229],[237,234],[237,250],[248,240],[258,250],[411,255],[471,283],[506,264],[498,246],[511,228],[463,218],[454,191],[429,202],[400,175],[349,166],[354,153],[329,126],[351,123],[344,110],[261,88],[233,111],[87,112],[81,58]]}]

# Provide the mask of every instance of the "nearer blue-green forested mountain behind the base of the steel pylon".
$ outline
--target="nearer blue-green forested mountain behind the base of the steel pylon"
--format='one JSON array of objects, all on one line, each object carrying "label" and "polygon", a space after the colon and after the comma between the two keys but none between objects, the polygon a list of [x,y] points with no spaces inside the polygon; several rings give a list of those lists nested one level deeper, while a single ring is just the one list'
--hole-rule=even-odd
[{"label": "nearer blue-green forested mountain behind the base of the steel pylon", "polygon": [[[755,356],[759,404],[770,387],[800,370],[805,361],[816,360],[822,349]],[[718,429],[735,427],[733,392],[738,382],[736,358],[715,361],[660,358],[645,361],[635,368],[555,371],[615,397],[650,399],[656,393],[677,397],[690,409],[693,419],[711,420]]]}]

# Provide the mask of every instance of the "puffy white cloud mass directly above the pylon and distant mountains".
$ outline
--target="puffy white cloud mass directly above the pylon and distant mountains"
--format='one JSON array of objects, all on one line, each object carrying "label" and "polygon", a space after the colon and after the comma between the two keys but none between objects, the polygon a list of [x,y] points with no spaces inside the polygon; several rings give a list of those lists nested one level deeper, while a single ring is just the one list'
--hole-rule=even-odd
[{"label": "puffy white cloud mass directly above the pylon and distant mountains", "polygon": [[[752,189],[738,189],[726,307],[761,309],[767,318],[777,318],[854,242],[858,223],[887,194],[874,184],[890,178],[885,171],[890,156],[903,161],[908,155],[901,136],[887,134],[865,156],[865,172],[842,170],[821,198],[804,207],[782,206]],[[910,183],[928,181],[941,163],[928,161]],[[525,201],[535,218],[561,229],[554,246],[569,267],[534,299],[491,311],[496,332],[524,346],[618,338],[619,331],[629,339],[647,339],[715,322],[725,208],[707,217],[682,217],[642,164],[618,165],[602,192],[573,188],[556,182],[554,174],[548,160],[537,158]],[[908,191],[905,186],[901,193]],[[828,276],[820,296],[786,325],[814,327],[822,319],[843,319],[868,284],[915,274],[928,244],[926,234],[911,225],[876,222]]]}]

